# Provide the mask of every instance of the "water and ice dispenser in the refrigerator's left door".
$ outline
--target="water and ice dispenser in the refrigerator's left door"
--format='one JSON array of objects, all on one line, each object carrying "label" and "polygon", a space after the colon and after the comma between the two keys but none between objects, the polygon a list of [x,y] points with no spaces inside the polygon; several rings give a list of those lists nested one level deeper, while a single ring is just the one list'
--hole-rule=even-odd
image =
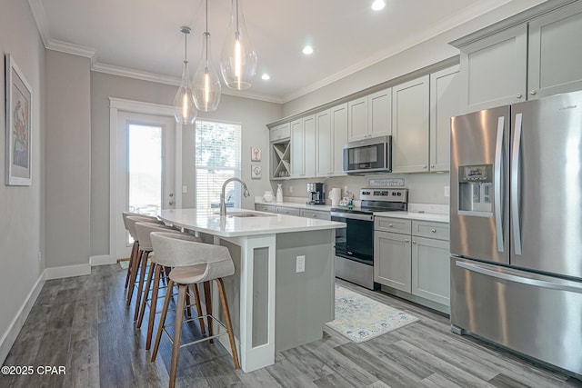
[{"label": "water and ice dispenser in the refrigerator's left door", "polygon": [[493,216],[493,164],[458,167],[458,214]]}]

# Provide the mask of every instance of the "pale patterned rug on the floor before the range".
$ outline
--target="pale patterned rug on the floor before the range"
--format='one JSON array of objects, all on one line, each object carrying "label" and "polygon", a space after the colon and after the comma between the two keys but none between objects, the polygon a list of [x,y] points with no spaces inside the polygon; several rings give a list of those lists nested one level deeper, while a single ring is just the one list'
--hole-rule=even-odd
[{"label": "pale patterned rug on the floor before the range", "polygon": [[355,343],[363,343],[416,321],[414,315],[336,284],[336,319],[326,325]]}]

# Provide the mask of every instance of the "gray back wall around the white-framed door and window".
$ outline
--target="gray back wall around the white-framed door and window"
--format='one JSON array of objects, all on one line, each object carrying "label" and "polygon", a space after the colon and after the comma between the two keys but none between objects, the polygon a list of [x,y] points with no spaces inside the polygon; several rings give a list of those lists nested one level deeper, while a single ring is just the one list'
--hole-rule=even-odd
[{"label": "gray back wall around the white-framed door and window", "polygon": [[[109,254],[109,97],[154,104],[171,105],[177,86],[162,85],[115,75],[91,72],[91,255]],[[200,118],[242,124],[242,178],[251,192],[243,206],[253,208],[254,195],[270,190],[268,181],[268,131],[266,123],[281,117],[280,104],[265,103],[223,95],[216,112],[199,114]],[[188,186],[183,207],[195,204],[194,193],[194,126],[187,125],[182,134],[182,180]],[[264,151],[263,178],[250,178],[250,147]]]}]

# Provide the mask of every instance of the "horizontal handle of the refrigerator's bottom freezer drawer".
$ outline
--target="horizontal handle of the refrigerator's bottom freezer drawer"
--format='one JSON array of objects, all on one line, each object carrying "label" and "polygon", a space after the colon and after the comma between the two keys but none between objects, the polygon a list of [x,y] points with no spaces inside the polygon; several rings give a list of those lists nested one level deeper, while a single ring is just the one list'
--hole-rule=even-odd
[{"label": "horizontal handle of the refrigerator's bottom freezer drawer", "polygon": [[[559,279],[557,282],[552,280],[546,280],[547,276],[528,274],[534,277],[519,276],[518,274],[510,274],[508,271],[502,272],[498,271],[500,267],[496,267],[488,264],[474,264],[465,262],[455,262],[457,267],[465,268],[468,271],[475,272],[477,274],[484,274],[487,276],[494,277],[499,280],[506,280],[513,283],[521,283],[527,285],[533,285],[535,287],[550,288],[559,291],[568,291],[572,293],[582,293],[582,286],[578,285],[577,282],[570,282],[567,280]],[[497,269],[489,269],[488,267],[494,267]]]}]

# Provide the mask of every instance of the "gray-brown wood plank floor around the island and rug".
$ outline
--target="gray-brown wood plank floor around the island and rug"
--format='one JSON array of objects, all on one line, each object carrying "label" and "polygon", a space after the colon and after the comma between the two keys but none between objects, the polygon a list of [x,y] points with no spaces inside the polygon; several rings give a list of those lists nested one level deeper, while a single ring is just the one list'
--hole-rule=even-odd
[{"label": "gray-brown wood plank floor around the island and rug", "polygon": [[[47,281],[5,365],[32,365],[35,370],[64,365],[66,374],[3,375],[0,386],[166,386],[170,343],[162,338],[156,363],[149,362],[146,324],[134,329],[133,303],[125,307],[124,282],[125,271],[117,264],[94,267],[89,276]],[[252,373],[235,371],[219,343],[200,343],[180,351],[176,386],[582,387],[577,379],[450,333],[446,316],[338,283],[413,313],[420,322],[359,344],[326,331],[322,340],[277,353],[274,365]],[[198,334],[196,323],[183,332]]]}]

